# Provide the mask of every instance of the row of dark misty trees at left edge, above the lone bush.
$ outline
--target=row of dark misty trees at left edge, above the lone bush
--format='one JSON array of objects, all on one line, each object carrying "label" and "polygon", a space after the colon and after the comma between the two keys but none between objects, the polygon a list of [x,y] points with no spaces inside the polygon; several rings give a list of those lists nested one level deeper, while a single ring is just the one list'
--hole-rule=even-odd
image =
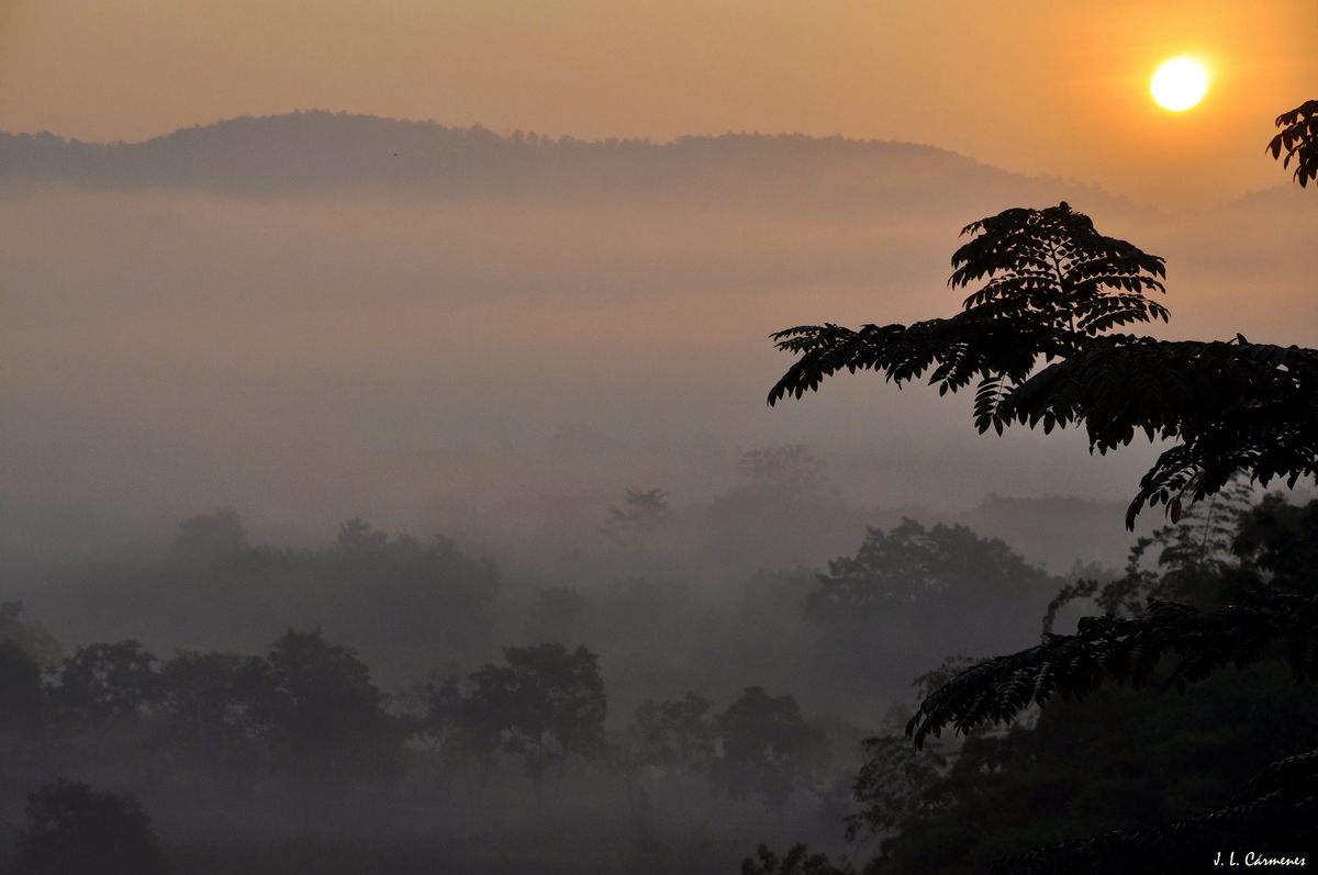
[{"label": "row of dark misty trees at left edge, above the lone bush", "polygon": [[[36,660],[0,644],[0,704],[20,729],[98,741],[130,726],[212,766],[269,755],[307,775],[387,775],[403,733],[351,647],[319,627],[289,630],[265,656],[181,651],[158,660],[140,642],[78,647],[49,683]],[[11,721],[13,722],[13,721]]]}]

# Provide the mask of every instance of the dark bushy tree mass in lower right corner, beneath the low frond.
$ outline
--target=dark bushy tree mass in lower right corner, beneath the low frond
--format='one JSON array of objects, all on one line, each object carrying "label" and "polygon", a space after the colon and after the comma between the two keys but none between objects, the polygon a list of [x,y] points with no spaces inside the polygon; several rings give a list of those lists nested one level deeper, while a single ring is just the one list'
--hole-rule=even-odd
[{"label": "dark bushy tree mass in lower right corner, beneath the low frond", "polygon": [[[1276,659],[1219,672],[1184,696],[1162,694],[1155,684],[1107,684],[1083,701],[1054,700],[1029,721],[974,730],[954,750],[942,748],[952,767],[915,793],[915,816],[880,838],[869,875],[982,874],[996,859],[1082,837],[1220,812],[1269,763],[1310,747],[1315,718],[1318,689],[1297,689]],[[919,756],[928,752],[927,745]],[[1252,850],[1281,851],[1293,841],[1293,818],[1273,822],[1278,829],[1257,834]],[[1231,847],[1240,846],[1186,843],[1180,862],[1203,871]],[[1166,855],[1149,859],[1166,863]],[[1091,868],[1070,862],[1054,871],[1137,871],[1097,857]]]}]

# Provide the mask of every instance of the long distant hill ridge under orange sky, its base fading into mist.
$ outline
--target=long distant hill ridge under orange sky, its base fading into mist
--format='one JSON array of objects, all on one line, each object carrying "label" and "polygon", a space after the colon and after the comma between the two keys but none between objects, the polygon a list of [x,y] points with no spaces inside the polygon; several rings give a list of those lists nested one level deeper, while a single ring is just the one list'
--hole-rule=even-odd
[{"label": "long distant hill ridge under orange sky, its base fading into mist", "polygon": [[358,190],[422,198],[788,199],[826,204],[832,213],[869,211],[876,202],[917,212],[963,211],[967,200],[996,203],[1008,192],[1023,203],[1054,203],[1058,192],[1081,191],[1090,207],[1101,200],[1130,208],[1060,179],[1012,174],[903,142],[804,134],[587,142],[324,111],[232,119],[137,144],[0,134],[0,190],[42,182],[241,196]]}]

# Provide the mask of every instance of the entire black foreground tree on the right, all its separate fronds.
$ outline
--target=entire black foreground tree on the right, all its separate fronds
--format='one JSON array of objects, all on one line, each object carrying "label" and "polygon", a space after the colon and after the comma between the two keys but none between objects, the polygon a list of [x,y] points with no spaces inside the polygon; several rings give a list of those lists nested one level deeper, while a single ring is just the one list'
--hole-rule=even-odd
[{"label": "entire black foreground tree on the right, all its separate fronds", "polygon": [[[1282,165],[1296,161],[1301,186],[1318,173],[1318,101],[1277,119],[1268,145]],[[975,423],[999,434],[1012,423],[1087,431],[1090,449],[1106,453],[1136,432],[1180,443],[1162,452],[1140,481],[1127,526],[1145,505],[1165,503],[1172,522],[1182,498],[1198,501],[1240,474],[1268,485],[1318,473],[1318,351],[1234,341],[1164,341],[1116,333],[1122,325],[1166,319],[1145,296],[1162,291],[1162,260],[1099,235],[1064,202],[1046,210],[1008,210],[967,225],[971,240],[953,256],[949,285],[983,285],[962,312],[907,325],[833,324],[788,328],[774,335],[800,358],[772,387],[770,405],[816,390],[846,369],[873,369],[899,386],[932,372],[940,393],[978,380]],[[1040,365],[1043,365],[1040,368]],[[1264,522],[1264,521],[1256,521]],[[1294,522],[1294,521],[1292,521]],[[1265,528],[1267,526],[1264,526]],[[1168,685],[1178,689],[1228,664],[1238,668],[1284,646],[1296,680],[1318,680],[1318,596],[1307,575],[1275,550],[1286,527],[1273,527],[1257,548],[1286,567],[1298,592],[1246,592],[1228,606],[1202,611],[1151,600],[1136,618],[1089,617],[1074,635],[1045,634],[1036,647],[966,668],[929,694],[907,725],[920,747],[931,734],[958,733],[1016,717],[1053,696],[1083,697],[1108,677],[1139,687],[1174,654]],[[1301,538],[1292,543],[1307,546]],[[1273,539],[1265,536],[1273,535]],[[1114,605],[1147,582],[1132,569],[1104,596]],[[1083,594],[1093,594],[1090,592]],[[1074,597],[1075,590],[1064,592]],[[1057,604],[1054,602],[1053,610]],[[1198,871],[1214,851],[1273,850],[1288,855],[1318,842],[1318,751],[1275,763],[1218,812],[1173,824],[1091,839],[1000,861],[996,872]],[[854,822],[853,822],[854,824]],[[788,864],[791,863],[791,864]],[[779,861],[760,849],[745,872],[844,871],[804,849]]]}]

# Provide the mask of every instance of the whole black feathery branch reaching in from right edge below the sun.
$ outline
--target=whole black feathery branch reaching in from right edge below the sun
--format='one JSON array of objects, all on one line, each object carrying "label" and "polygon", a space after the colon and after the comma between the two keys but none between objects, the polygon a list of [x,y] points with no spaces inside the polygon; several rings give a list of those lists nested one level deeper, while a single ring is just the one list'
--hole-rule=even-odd
[{"label": "whole black feathery branch reaching in from right edge below the sun", "polygon": [[[899,386],[929,372],[940,393],[978,380],[981,432],[1012,423],[1083,426],[1106,453],[1178,440],[1140,481],[1127,526],[1145,505],[1181,513],[1181,497],[1213,495],[1238,472],[1268,485],[1318,473],[1318,352],[1231,341],[1165,341],[1114,333],[1166,320],[1147,296],[1164,262],[1106,237],[1065,202],[1007,210],[966,225],[953,287],[983,285],[962,312],[912,325],[803,325],[774,335],[800,358],[768,402],[801,397],[840,370],[878,370]],[[1043,366],[1040,366],[1043,365]]]}]

